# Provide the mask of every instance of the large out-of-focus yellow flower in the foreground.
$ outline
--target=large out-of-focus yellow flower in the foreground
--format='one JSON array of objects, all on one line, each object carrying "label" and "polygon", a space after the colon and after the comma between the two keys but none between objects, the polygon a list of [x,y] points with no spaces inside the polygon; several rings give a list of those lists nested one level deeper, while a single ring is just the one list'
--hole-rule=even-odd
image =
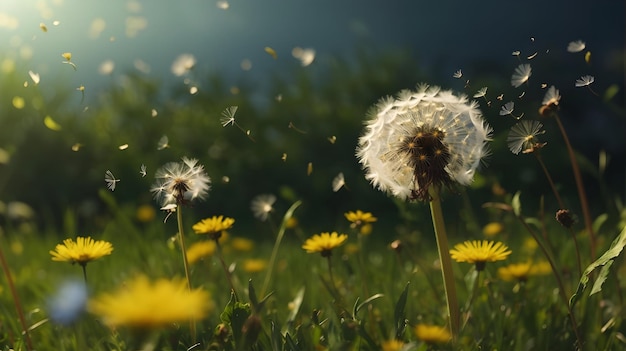
[{"label": "large out-of-focus yellow flower in the foreground", "polygon": [[88,310],[111,328],[154,329],[170,323],[200,320],[213,307],[209,293],[189,290],[183,279],[151,282],[139,276],[114,293],[88,302]]}]

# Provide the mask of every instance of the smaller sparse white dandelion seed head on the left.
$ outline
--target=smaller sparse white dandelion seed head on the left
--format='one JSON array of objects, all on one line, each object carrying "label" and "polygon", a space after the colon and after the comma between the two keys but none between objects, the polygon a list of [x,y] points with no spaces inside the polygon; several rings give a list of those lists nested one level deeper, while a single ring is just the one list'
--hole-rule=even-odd
[{"label": "smaller sparse white dandelion seed head on the left", "polygon": [[159,168],[150,191],[161,206],[188,204],[204,199],[211,189],[211,179],[198,160],[183,157],[182,162],[169,162]]}]

